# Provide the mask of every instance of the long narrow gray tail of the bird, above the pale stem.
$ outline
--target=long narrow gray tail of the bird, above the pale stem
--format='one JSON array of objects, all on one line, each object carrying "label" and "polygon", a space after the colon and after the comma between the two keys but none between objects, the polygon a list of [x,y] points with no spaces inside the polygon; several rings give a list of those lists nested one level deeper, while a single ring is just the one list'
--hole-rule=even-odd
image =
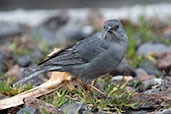
[{"label": "long narrow gray tail of the bird, above the pale stem", "polygon": [[45,73],[45,72],[51,72],[51,71],[61,71],[61,67],[59,66],[52,66],[52,65],[48,65],[48,66],[43,66],[35,71],[33,71],[30,75],[28,75],[27,77],[18,80],[17,82],[15,82],[12,86],[16,87],[17,85],[20,84],[25,84],[28,82],[28,80],[38,76],[39,74]]}]

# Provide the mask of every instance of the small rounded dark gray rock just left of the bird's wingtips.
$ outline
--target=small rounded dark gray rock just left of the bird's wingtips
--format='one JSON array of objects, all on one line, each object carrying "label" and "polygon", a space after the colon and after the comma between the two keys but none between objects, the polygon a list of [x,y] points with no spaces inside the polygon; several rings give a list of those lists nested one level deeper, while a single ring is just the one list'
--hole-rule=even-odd
[{"label": "small rounded dark gray rock just left of the bird's wingtips", "polygon": [[18,59],[18,64],[20,67],[27,67],[32,63],[32,58],[30,55],[24,55]]}]

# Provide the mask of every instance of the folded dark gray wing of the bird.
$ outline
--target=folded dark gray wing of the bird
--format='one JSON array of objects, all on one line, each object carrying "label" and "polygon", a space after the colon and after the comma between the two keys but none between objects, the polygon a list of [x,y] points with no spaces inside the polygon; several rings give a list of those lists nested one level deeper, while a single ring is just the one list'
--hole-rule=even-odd
[{"label": "folded dark gray wing of the bird", "polygon": [[109,48],[103,40],[95,37],[84,39],[75,45],[62,49],[39,65],[76,65],[85,64]]}]

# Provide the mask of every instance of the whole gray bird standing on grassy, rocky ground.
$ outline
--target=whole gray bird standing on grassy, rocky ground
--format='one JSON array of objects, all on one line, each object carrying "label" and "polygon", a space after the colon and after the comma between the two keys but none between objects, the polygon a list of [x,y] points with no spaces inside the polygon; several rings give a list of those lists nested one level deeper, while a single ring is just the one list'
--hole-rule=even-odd
[{"label": "whole gray bird standing on grassy, rocky ground", "polygon": [[19,80],[18,85],[41,73],[68,72],[85,83],[113,71],[125,55],[128,38],[119,20],[108,20],[104,28],[75,45],[62,49],[39,64],[29,77]]}]

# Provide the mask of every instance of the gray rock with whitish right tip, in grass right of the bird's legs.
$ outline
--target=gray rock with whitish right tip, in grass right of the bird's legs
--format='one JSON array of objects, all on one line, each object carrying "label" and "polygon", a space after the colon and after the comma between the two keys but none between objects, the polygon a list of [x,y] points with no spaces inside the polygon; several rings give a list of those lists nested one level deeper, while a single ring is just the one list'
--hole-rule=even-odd
[{"label": "gray rock with whitish right tip, in grass right of the bird's legs", "polygon": [[160,84],[161,81],[162,81],[161,79],[157,79],[157,78],[151,79],[151,80],[146,80],[146,81],[142,82],[142,84],[140,85],[139,91],[143,92],[148,89],[151,89],[152,86]]}]

